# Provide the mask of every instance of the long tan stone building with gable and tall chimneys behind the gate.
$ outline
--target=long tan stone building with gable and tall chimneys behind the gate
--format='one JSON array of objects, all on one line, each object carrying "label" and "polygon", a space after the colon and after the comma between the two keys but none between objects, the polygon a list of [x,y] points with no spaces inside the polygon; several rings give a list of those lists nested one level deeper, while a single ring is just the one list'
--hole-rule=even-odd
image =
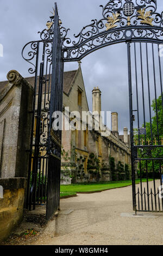
[{"label": "long tan stone building with gable and tall chimneys behind the gate", "polygon": [[[34,87],[35,77],[28,77],[26,80]],[[0,89],[3,89],[4,84],[6,82],[0,82]],[[43,92],[42,108],[47,100],[47,95]],[[64,72],[61,184],[111,180],[110,157],[114,157],[115,169],[119,162],[123,166],[130,164],[130,136],[127,127],[124,127],[124,135],[119,136],[118,114],[111,114],[112,131],[102,124],[106,129],[105,136],[101,128],[96,129],[96,126],[103,123],[100,114],[101,101],[100,89],[93,88],[93,112],[89,112],[80,64],[78,70]],[[83,112],[87,113],[87,119],[83,117]],[[80,115],[80,120],[77,115]],[[89,118],[92,120],[93,129],[90,129]],[[65,129],[65,122],[70,127],[76,127]]]}]

